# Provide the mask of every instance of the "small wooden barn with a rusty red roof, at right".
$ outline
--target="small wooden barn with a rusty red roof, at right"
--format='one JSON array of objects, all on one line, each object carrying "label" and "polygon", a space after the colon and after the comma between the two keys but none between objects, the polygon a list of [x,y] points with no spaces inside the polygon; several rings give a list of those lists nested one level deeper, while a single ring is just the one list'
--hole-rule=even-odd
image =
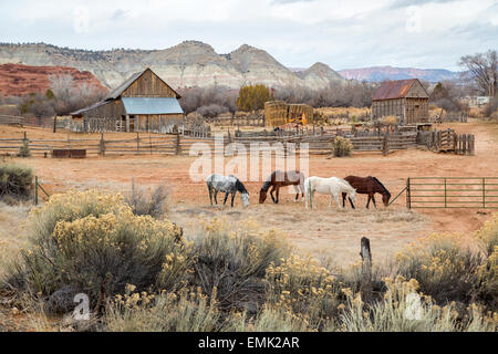
[{"label": "small wooden barn with a rusty red roof, at right", "polygon": [[428,122],[428,94],[418,79],[386,81],[372,98],[372,117],[394,115],[400,124]]}]

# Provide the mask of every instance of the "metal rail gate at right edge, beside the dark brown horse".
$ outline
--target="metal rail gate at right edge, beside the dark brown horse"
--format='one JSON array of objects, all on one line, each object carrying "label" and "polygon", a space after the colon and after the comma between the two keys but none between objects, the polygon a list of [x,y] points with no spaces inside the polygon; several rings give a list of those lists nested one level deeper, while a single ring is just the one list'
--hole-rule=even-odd
[{"label": "metal rail gate at right edge, beside the dark brown horse", "polygon": [[409,177],[406,207],[498,208],[498,177]]}]

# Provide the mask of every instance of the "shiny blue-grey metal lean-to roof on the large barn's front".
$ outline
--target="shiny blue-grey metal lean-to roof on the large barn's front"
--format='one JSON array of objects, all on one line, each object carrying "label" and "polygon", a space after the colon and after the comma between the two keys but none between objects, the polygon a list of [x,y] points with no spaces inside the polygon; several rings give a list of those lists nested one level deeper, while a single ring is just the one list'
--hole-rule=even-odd
[{"label": "shiny blue-grey metal lean-to roof on the large barn's front", "polygon": [[175,97],[122,97],[126,114],[183,114]]}]

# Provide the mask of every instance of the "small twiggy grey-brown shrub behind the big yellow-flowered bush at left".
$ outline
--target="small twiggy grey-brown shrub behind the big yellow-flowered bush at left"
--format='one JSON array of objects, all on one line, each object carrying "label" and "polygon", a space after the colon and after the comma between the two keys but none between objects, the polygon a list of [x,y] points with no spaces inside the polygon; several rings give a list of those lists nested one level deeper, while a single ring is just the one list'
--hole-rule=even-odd
[{"label": "small twiggy grey-brown shrub behind the big yellow-flowered bush at left", "polygon": [[125,201],[134,215],[149,215],[159,219],[166,211],[167,199],[166,186],[159,185],[147,195],[144,188],[136,187],[135,181],[132,180],[132,192],[125,198]]}]

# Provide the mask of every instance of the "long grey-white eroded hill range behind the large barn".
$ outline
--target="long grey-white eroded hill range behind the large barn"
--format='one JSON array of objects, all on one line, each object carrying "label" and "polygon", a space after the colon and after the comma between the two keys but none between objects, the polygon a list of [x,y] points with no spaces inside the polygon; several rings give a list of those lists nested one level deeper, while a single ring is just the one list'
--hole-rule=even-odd
[{"label": "long grey-white eroded hill range behind the large barn", "polygon": [[317,63],[295,73],[266,51],[247,44],[228,54],[218,54],[212,46],[198,41],[152,51],[86,51],[44,43],[3,43],[0,44],[0,64],[4,63],[72,66],[93,73],[110,88],[147,66],[174,88],[214,84],[239,88],[255,83],[320,88],[346,82],[325,64]]}]

